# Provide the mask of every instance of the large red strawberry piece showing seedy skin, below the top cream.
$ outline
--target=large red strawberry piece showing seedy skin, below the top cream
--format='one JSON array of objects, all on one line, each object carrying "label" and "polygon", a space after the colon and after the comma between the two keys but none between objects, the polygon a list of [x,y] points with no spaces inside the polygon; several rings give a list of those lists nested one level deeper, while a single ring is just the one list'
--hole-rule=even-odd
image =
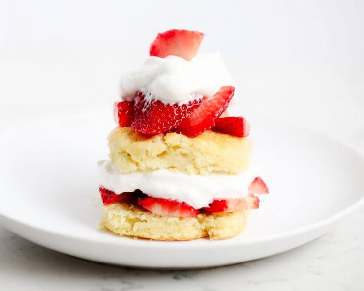
[{"label": "large red strawberry piece showing seedy skin, below the top cream", "polygon": [[142,92],[135,97],[135,113],[131,126],[143,134],[157,134],[174,129],[181,121],[189,116],[202,102],[195,99],[179,106],[166,105],[159,100],[146,101]]}]

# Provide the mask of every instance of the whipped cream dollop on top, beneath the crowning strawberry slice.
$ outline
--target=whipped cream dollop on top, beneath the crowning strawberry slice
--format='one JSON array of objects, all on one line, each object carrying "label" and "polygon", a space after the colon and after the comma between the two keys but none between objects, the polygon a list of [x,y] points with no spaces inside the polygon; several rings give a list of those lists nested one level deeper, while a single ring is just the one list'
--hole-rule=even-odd
[{"label": "whipped cream dollop on top, beneath the crowning strawberry slice", "polygon": [[202,96],[213,96],[221,86],[232,85],[219,53],[199,54],[187,61],[178,56],[150,56],[138,70],[121,78],[123,100],[133,100],[139,90],[165,104],[183,104]]}]

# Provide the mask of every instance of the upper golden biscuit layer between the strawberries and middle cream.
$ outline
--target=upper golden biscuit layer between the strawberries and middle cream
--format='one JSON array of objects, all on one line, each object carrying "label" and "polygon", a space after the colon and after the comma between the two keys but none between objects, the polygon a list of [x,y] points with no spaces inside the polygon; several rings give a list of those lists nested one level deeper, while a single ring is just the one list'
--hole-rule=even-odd
[{"label": "upper golden biscuit layer between the strawberries and middle cream", "polygon": [[109,135],[109,148],[122,173],[176,169],[187,174],[238,174],[250,165],[252,142],[211,130],[188,138],[177,133],[146,136],[118,127]]}]

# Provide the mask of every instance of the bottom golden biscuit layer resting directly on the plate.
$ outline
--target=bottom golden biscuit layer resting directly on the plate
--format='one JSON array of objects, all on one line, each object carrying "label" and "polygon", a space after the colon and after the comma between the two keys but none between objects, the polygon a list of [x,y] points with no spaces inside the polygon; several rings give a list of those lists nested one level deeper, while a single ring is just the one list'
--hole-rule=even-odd
[{"label": "bottom golden biscuit layer resting directly on the plate", "polygon": [[199,214],[196,217],[155,215],[135,205],[110,204],[103,208],[104,227],[119,235],[154,240],[224,239],[243,231],[246,210]]}]

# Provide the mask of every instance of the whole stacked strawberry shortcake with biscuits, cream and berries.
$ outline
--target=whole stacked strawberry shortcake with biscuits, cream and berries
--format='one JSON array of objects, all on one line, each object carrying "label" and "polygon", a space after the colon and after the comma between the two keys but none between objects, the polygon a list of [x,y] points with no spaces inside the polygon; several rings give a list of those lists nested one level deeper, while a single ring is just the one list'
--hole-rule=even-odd
[{"label": "whole stacked strawberry shortcake with biscuits, cream and berries", "polygon": [[98,162],[103,225],[155,240],[224,239],[243,231],[268,188],[251,164],[250,126],[228,116],[234,82],[203,33],[158,34],[121,78],[110,160]]}]

